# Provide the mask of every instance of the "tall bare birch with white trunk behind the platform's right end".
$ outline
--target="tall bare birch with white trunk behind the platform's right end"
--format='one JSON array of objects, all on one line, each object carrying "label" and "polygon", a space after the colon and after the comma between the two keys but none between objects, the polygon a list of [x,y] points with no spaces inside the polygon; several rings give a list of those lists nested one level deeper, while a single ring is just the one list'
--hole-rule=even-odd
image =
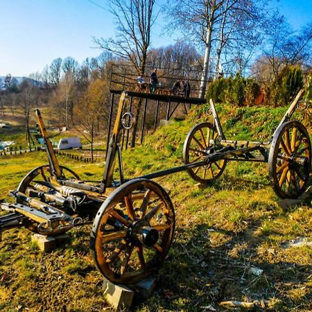
[{"label": "tall bare birch with white trunk behind the platform's right end", "polygon": [[[250,20],[260,20],[262,6],[266,0],[177,0],[168,10],[171,27],[182,29],[189,40],[202,42],[205,57],[202,67],[200,97],[205,97],[209,67],[211,67],[211,49],[213,42],[220,44],[216,48],[217,61],[229,42],[241,40],[250,27]],[[261,15],[262,16],[262,15]],[[234,33],[241,35],[235,35]],[[219,39],[218,39],[219,38]]]}]

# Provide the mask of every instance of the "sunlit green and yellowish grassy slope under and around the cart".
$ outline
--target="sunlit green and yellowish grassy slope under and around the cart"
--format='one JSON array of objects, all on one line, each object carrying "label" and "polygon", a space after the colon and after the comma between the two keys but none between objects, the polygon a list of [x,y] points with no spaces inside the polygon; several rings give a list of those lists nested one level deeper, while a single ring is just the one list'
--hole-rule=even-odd
[{"label": "sunlit green and yellowish grassy slope under and around the cart", "polygon": [[[182,164],[182,145],[198,121],[211,121],[207,106],[186,121],[160,128],[144,146],[125,150],[125,177]],[[286,107],[217,107],[229,139],[268,139]],[[298,114],[304,121],[304,115]],[[266,121],[266,122],[265,122]],[[0,158],[0,194],[6,197],[44,153]],[[82,178],[99,180],[103,164],[60,157]],[[229,163],[216,182],[200,187],[186,172],[157,179],[170,191],[177,225],[171,251],[150,300],[134,311],[223,311],[224,300],[268,300],[270,311],[311,311],[312,250],[290,247],[312,240],[311,200],[283,210],[270,187],[266,164]],[[89,255],[89,226],[69,232],[69,242],[42,254],[31,233],[14,230],[0,243],[1,311],[103,311],[102,279]],[[263,274],[252,275],[250,268]],[[209,307],[210,306],[210,307]],[[209,310],[210,309],[210,310]]]}]

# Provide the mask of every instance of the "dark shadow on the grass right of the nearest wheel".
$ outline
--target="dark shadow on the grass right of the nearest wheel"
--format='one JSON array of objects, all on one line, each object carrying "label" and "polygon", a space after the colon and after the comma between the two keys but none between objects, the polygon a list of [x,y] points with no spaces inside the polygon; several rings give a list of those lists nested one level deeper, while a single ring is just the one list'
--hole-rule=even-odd
[{"label": "dark shadow on the grass right of the nearest wheel", "polygon": [[[311,281],[312,266],[281,257],[270,261],[259,254],[259,245],[266,237],[254,234],[255,226],[240,233],[206,225],[178,228],[160,271],[155,297],[145,304],[153,306],[156,300],[157,309],[171,311],[204,311],[212,304],[216,311],[223,311],[218,303],[225,300],[268,300],[270,311],[309,311],[311,288],[302,284]],[[212,234],[226,239],[213,247]],[[270,250],[264,254],[267,252]],[[252,267],[260,268],[263,274],[252,275]]]}]

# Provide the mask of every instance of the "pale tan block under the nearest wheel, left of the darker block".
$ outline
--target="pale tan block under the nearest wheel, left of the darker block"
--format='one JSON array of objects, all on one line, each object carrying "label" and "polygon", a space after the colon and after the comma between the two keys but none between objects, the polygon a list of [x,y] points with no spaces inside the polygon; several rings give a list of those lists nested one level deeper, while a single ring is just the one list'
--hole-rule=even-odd
[{"label": "pale tan block under the nearest wheel, left of the darker block", "polygon": [[116,311],[128,311],[130,309],[135,294],[132,289],[113,284],[107,279],[104,279],[103,286],[105,299]]}]

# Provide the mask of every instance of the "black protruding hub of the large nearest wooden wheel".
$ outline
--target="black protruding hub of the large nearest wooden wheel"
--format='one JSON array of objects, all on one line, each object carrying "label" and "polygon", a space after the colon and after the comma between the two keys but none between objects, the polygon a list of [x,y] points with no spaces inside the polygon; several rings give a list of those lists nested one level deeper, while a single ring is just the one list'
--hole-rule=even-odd
[{"label": "black protruding hub of the large nearest wooden wheel", "polygon": [[130,225],[128,230],[128,237],[135,245],[146,245],[151,247],[157,243],[159,233],[157,229],[150,226],[146,220],[136,220]]}]

